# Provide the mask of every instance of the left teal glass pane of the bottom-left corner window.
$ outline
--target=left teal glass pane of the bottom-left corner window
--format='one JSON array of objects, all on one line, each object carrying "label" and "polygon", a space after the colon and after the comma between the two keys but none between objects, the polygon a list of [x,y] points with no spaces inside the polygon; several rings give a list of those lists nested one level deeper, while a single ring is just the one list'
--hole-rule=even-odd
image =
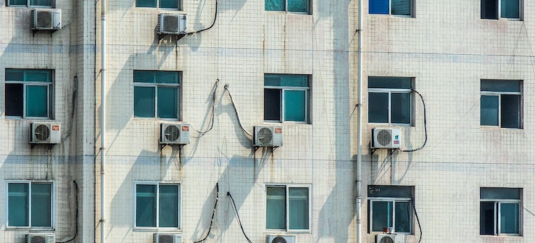
[{"label": "left teal glass pane of the bottom-left corner window", "polygon": [[28,193],[27,183],[8,185],[8,226],[29,226]]}]

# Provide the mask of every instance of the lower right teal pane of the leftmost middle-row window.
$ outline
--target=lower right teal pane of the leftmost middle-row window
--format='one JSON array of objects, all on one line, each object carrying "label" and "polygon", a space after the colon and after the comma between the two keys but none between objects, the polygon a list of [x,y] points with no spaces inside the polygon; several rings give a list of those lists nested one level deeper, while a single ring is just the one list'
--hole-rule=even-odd
[{"label": "lower right teal pane of the leftmost middle-row window", "polygon": [[26,117],[48,117],[48,87],[26,85]]}]

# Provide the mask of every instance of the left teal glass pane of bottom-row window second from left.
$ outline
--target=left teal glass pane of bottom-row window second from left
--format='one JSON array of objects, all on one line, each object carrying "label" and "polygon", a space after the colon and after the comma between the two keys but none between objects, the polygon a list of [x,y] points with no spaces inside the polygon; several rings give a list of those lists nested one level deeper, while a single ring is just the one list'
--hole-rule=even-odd
[{"label": "left teal glass pane of bottom-row window second from left", "polygon": [[156,227],[156,185],[135,185],[135,226]]}]

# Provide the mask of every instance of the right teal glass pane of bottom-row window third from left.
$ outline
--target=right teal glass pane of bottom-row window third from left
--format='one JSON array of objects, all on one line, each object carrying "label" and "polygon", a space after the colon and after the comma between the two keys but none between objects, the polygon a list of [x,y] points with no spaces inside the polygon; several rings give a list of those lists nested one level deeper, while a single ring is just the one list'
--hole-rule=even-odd
[{"label": "right teal glass pane of bottom-row window third from left", "polygon": [[288,228],[308,229],[308,188],[288,189]]}]

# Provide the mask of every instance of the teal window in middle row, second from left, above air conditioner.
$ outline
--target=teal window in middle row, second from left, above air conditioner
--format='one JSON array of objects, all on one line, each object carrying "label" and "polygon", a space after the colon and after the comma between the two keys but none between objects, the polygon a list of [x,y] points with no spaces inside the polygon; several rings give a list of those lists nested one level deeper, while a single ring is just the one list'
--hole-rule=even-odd
[{"label": "teal window in middle row, second from left, above air conditioner", "polygon": [[180,73],[134,71],[134,116],[179,118]]}]

